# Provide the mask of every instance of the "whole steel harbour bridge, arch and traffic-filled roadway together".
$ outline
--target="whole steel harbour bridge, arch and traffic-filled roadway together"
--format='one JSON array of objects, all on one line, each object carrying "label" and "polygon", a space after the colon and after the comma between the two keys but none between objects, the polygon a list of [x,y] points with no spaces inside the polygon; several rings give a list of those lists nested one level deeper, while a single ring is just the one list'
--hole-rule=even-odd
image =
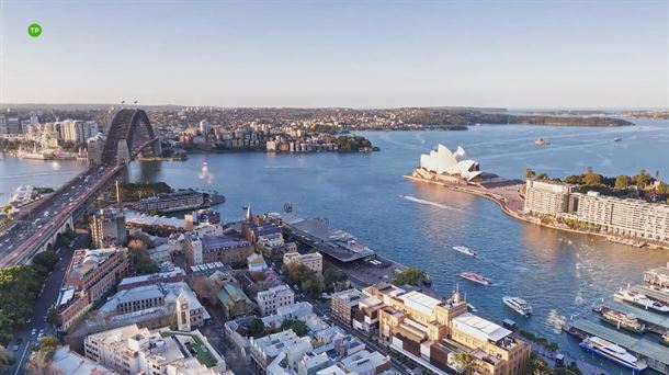
[{"label": "whole steel harbour bridge, arch and traffic-filled roadway together", "polygon": [[138,155],[160,156],[160,138],[145,111],[122,109],[105,138],[88,141],[89,168],[22,211],[0,232],[0,266],[30,263],[39,251],[52,250],[75,221],[88,215],[97,197],[116,181],[127,179],[127,166]]}]

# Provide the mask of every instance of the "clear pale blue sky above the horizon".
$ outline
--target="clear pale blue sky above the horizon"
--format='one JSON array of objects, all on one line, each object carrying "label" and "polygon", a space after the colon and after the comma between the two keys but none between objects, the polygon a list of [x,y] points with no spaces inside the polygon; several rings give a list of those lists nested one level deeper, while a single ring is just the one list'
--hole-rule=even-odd
[{"label": "clear pale blue sky above the horizon", "polygon": [[3,103],[669,106],[667,0],[0,3]]}]

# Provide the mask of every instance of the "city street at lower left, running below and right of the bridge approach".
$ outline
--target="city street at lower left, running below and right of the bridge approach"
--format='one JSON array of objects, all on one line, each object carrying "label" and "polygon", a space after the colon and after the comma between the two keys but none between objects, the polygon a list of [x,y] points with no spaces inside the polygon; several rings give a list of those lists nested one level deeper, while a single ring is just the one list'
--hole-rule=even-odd
[{"label": "city street at lower left, running below and right of the bridge approach", "polygon": [[[23,366],[30,359],[30,346],[37,342],[37,336],[41,332],[44,333],[44,336],[55,334],[53,326],[46,322],[47,311],[49,306],[54,305],[58,298],[60,285],[65,277],[65,271],[72,258],[75,249],[80,249],[83,246],[84,240],[84,235],[77,235],[71,242],[71,246],[68,243],[66,247],[61,248],[59,253],[61,260],[55,264],[54,271],[46,279],[43,292],[35,302],[30,322],[14,331],[14,339],[8,345],[8,350],[10,350],[16,359],[16,363],[9,368],[8,374],[18,375],[25,373]],[[18,340],[21,340],[20,344],[16,344]]]}]

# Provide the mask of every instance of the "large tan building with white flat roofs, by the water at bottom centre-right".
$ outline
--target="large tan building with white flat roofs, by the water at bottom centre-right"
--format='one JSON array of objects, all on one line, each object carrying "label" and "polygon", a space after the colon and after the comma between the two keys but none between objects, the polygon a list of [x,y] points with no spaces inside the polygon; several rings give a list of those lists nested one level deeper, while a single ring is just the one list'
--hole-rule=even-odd
[{"label": "large tan building with white flat roofs, by the water at bottom centre-right", "polygon": [[521,374],[530,360],[528,343],[469,314],[457,292],[449,300],[387,285],[366,292],[384,302],[378,310],[379,337],[393,350],[436,374],[449,373],[453,367],[450,359],[461,351],[475,359],[480,374]]}]

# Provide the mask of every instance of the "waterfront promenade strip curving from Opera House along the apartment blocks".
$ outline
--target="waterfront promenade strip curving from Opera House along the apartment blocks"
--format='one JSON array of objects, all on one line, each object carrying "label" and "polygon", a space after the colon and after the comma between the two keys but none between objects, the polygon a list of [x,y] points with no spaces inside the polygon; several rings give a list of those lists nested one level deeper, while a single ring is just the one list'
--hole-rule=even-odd
[{"label": "waterfront promenade strip curving from Opera House along the apartment blocks", "polygon": [[[417,178],[417,177],[410,175],[410,174],[404,174],[402,178],[405,178],[407,180],[411,180],[411,181],[418,181],[418,182],[440,185],[440,186],[450,189],[452,191],[467,193],[467,194],[473,194],[473,195],[477,195],[477,196],[487,198],[489,201],[492,201],[492,202],[497,203],[497,205],[500,207],[502,213],[507,214],[507,216],[513,217],[513,218],[515,218],[518,220],[521,220],[521,221],[524,221],[524,223],[528,223],[528,224],[534,224],[534,225],[537,225],[540,227],[551,228],[551,229],[555,229],[555,230],[569,231],[569,232],[572,232],[572,234],[596,236],[596,237],[601,237],[601,238],[604,238],[604,239],[608,239],[609,237],[611,237],[610,235],[606,235],[606,234],[599,234],[599,232],[594,232],[594,231],[587,231],[587,230],[580,230],[580,229],[574,229],[574,228],[564,228],[564,227],[558,227],[558,226],[555,226],[555,225],[552,225],[552,224],[544,224],[544,223],[541,223],[538,220],[537,221],[531,220],[530,218],[525,217],[524,215],[521,215],[520,213],[511,209],[508,206],[508,204],[507,204],[507,198],[504,196],[501,196],[501,195],[496,194],[496,193],[483,192],[483,191],[478,191],[476,189],[472,189],[472,188],[468,188],[468,186],[456,186],[456,185],[453,185],[453,184],[449,184],[446,182],[426,180],[426,179]],[[622,245],[624,245],[624,243],[622,243]],[[627,246],[630,246],[630,245],[627,245]],[[646,247],[648,247],[649,249],[665,249],[665,250],[669,250],[669,247],[657,245],[657,243],[648,243],[648,245],[646,245]]]}]

